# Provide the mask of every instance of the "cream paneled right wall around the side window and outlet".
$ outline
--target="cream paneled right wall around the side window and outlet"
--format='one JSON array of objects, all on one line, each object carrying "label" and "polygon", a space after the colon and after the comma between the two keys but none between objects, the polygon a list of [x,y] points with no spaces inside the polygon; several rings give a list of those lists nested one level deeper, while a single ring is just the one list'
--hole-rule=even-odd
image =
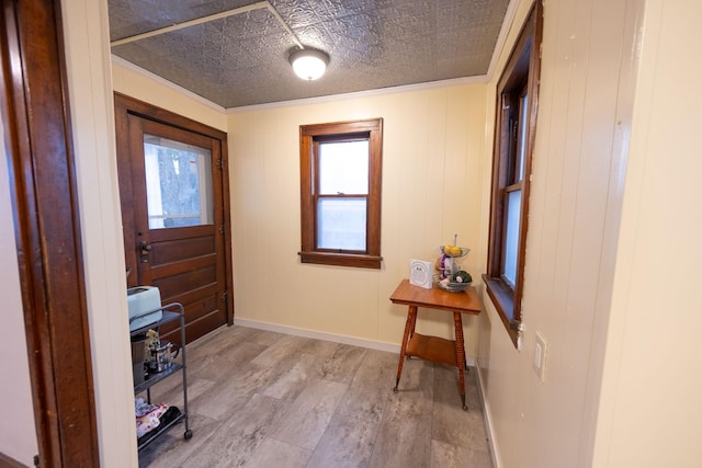
[{"label": "cream paneled right wall around the side window and outlet", "polygon": [[[530,5],[518,2],[500,62]],[[545,2],[522,350],[487,297],[480,328],[479,362],[500,466],[590,466],[642,5]],[[547,342],[543,383],[532,368],[536,332]]]}]

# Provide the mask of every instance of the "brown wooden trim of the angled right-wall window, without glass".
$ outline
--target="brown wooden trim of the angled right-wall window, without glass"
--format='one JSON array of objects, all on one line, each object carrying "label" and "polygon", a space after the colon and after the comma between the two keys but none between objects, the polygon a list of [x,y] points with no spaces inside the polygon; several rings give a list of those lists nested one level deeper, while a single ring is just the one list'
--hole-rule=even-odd
[{"label": "brown wooden trim of the angled right-wall window, without glass", "polygon": [[[495,126],[495,149],[492,163],[492,190],[490,203],[490,235],[488,239],[487,273],[483,275],[486,290],[500,316],[505,328],[516,347],[519,347],[521,331],[521,301],[524,286],[524,251],[529,225],[529,195],[532,151],[536,133],[536,113],[539,106],[539,79],[541,69],[541,41],[543,31],[543,7],[536,2],[528,20],[522,26],[520,36],[514,44],[510,58],[505,66],[497,85],[497,113]],[[509,122],[503,112],[506,93],[523,94],[520,82],[526,76],[528,102],[528,135],[524,153],[524,172],[521,183],[508,179],[516,168],[507,168],[509,158],[502,155],[509,151],[509,132],[505,127]],[[518,88],[519,87],[519,88]],[[503,194],[517,184],[521,186],[521,217],[519,227],[519,243],[517,258],[516,285],[512,288],[501,277],[501,262],[503,260],[502,236],[505,230],[506,201]]]}]

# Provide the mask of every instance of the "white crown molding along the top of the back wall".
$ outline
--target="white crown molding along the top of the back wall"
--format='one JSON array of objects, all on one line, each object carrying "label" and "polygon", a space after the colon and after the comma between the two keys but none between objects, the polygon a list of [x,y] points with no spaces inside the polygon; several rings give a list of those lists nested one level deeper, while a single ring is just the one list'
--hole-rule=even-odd
[{"label": "white crown molding along the top of the back wall", "polygon": [[430,90],[430,89],[437,89],[437,88],[457,87],[462,84],[485,84],[489,80],[487,75],[479,75],[475,77],[454,78],[451,80],[429,81],[426,83],[417,83],[417,84],[405,84],[401,87],[381,88],[376,90],[356,91],[356,92],[342,93],[342,94],[329,94],[329,95],[322,95],[317,98],[305,98],[305,99],[297,99],[292,101],[270,102],[264,104],[242,105],[239,107],[227,107],[225,113],[229,115],[229,114],[239,114],[239,113],[252,112],[252,111],[264,111],[269,109],[290,107],[293,105],[324,104],[324,103],[335,102],[335,101],[347,101],[350,99],[362,99],[362,98],[372,98],[372,96],[396,94],[396,93],[407,93],[407,92],[423,91],[423,90]]}]

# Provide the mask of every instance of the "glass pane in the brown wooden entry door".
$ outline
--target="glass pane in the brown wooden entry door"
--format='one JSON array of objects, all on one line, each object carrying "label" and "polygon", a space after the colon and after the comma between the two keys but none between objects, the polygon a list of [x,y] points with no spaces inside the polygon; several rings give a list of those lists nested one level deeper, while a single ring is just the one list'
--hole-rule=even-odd
[{"label": "glass pane in the brown wooden entry door", "polygon": [[149,229],[213,224],[208,149],[144,135]]}]

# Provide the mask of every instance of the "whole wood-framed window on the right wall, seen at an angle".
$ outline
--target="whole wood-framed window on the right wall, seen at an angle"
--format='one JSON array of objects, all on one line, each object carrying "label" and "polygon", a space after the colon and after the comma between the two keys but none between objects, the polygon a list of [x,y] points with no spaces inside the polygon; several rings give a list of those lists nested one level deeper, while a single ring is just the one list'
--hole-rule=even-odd
[{"label": "whole wood-framed window on the right wall, seen at an angle", "polygon": [[490,237],[484,279],[487,293],[518,347],[542,18],[541,2],[536,2],[497,85]]}]

